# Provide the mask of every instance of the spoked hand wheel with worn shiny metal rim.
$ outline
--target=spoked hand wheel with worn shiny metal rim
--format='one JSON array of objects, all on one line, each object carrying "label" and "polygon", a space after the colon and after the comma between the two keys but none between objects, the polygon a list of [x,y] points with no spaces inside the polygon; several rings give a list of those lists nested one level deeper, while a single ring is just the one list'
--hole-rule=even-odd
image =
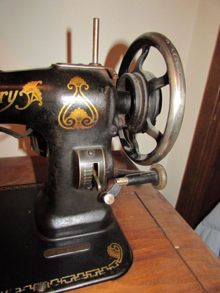
[{"label": "spoked hand wheel with worn shiny metal rim", "polygon": [[[166,63],[167,71],[161,77],[155,77],[145,71],[142,65],[148,56],[150,47],[158,49]],[[132,73],[129,73],[132,61],[139,50]],[[119,130],[119,138],[127,155],[139,165],[152,165],[162,160],[173,147],[182,124],[185,107],[185,79],[176,48],[164,35],[151,32],[139,36],[128,48],[120,69],[117,90],[129,91],[131,95],[130,113],[125,116],[125,126]],[[162,134],[156,127],[156,117],[162,105],[161,88],[169,84],[170,105]],[[146,132],[156,140],[156,147],[148,154],[139,152],[136,133]]]}]

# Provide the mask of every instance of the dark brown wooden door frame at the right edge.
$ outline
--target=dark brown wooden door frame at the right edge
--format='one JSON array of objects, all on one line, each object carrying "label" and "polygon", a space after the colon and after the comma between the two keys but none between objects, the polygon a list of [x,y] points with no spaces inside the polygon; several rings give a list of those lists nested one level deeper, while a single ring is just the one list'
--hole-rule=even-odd
[{"label": "dark brown wooden door frame at the right edge", "polygon": [[176,210],[195,228],[220,200],[220,32]]}]

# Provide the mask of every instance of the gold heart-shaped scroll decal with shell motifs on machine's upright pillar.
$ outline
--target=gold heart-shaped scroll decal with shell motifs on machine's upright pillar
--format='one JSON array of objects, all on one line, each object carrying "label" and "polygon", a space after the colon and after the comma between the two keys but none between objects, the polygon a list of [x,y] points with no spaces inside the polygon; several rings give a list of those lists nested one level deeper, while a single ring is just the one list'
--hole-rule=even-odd
[{"label": "gold heart-shaped scroll decal with shell motifs on machine's upright pillar", "polygon": [[[98,112],[83,92],[89,88],[86,81],[75,76],[67,84],[67,87],[70,90],[73,89],[74,94],[60,110],[58,115],[59,125],[65,129],[86,129],[96,125],[99,119]],[[74,105],[76,106],[74,107]],[[77,105],[83,105],[83,108]]]}]

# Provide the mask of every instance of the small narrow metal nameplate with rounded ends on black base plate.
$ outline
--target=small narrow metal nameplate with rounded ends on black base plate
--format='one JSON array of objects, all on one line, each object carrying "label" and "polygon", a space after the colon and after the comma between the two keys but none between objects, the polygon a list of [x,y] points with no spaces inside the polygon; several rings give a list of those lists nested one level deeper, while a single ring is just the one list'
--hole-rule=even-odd
[{"label": "small narrow metal nameplate with rounded ends on black base plate", "polygon": [[50,258],[50,257],[64,256],[64,255],[72,254],[79,251],[87,251],[90,248],[91,248],[91,244],[89,242],[75,243],[71,245],[47,249],[46,251],[44,251],[44,257]]}]

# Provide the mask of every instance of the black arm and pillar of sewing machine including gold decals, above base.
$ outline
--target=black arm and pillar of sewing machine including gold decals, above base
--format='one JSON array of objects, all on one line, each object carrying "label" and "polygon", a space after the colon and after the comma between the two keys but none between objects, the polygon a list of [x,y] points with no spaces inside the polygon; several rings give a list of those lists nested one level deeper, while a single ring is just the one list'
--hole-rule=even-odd
[{"label": "black arm and pillar of sewing machine including gold decals, above base", "polygon": [[[39,229],[48,238],[103,230],[112,221],[110,207],[97,201],[98,191],[90,188],[89,178],[92,164],[99,165],[97,173],[103,190],[112,177],[111,140],[117,132],[123,101],[118,101],[107,69],[96,67],[55,64],[45,69],[3,73],[7,82],[1,85],[5,94],[1,99],[0,122],[29,126],[47,143],[49,177],[44,192],[37,198],[36,212]],[[31,88],[31,83],[35,87]],[[38,93],[32,100],[25,93],[20,96],[26,84],[29,96],[33,97],[34,91]],[[11,103],[6,95],[10,95],[10,90],[12,96],[18,92]],[[63,119],[66,108],[69,109]],[[71,113],[73,118],[65,124]],[[84,125],[87,119],[91,123]]]}]

